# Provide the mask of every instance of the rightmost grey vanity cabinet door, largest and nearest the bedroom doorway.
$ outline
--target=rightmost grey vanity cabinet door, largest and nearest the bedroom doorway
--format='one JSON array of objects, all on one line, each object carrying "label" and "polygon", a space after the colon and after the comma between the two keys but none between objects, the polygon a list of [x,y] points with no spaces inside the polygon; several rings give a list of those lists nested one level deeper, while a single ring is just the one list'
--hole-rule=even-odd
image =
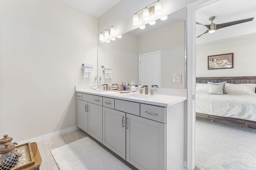
[{"label": "rightmost grey vanity cabinet door, largest and nearest the bedroom doorway", "polygon": [[166,168],[166,124],[126,113],[126,160],[140,170]]}]

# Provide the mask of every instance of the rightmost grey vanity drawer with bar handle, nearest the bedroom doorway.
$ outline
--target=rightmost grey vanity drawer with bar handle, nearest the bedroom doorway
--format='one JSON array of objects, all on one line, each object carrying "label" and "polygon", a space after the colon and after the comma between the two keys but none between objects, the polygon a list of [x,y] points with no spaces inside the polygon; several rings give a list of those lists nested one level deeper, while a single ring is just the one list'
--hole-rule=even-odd
[{"label": "rightmost grey vanity drawer with bar handle, nearest the bedroom doorway", "polygon": [[140,104],[140,116],[154,121],[166,123],[166,107]]}]

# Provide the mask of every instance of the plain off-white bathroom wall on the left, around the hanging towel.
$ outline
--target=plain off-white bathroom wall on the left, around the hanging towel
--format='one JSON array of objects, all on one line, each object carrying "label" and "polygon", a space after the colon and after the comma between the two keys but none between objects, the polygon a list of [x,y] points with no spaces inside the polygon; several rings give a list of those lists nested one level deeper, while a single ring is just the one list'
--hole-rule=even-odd
[{"label": "plain off-white bathroom wall on the left, around the hanging towel", "polygon": [[0,0],[0,135],[24,141],[76,126],[82,63],[97,75],[97,18],[59,0]]}]

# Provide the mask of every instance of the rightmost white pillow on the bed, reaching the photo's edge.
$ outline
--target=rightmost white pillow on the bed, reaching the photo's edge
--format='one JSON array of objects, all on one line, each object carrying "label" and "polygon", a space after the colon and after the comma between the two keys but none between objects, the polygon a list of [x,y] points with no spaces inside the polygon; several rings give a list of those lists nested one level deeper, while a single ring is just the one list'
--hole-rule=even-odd
[{"label": "rightmost white pillow on the bed, reaching the photo's edge", "polygon": [[256,84],[230,84],[226,83],[228,94],[255,94]]}]

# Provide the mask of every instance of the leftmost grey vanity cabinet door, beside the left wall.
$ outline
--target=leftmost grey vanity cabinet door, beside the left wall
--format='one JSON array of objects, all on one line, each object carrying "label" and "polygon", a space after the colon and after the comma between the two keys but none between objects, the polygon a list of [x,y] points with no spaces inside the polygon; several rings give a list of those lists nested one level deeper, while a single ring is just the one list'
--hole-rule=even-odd
[{"label": "leftmost grey vanity cabinet door, beside the left wall", "polygon": [[87,133],[87,102],[76,100],[76,125]]}]

